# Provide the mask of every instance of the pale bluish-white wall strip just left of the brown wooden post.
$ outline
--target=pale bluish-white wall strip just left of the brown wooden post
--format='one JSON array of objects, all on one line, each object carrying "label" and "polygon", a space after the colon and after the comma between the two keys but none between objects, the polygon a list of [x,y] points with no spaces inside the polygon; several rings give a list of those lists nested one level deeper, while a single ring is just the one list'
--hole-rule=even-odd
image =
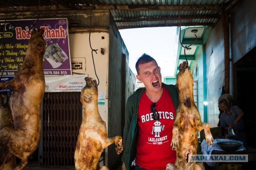
[{"label": "pale bluish-white wall strip just left of the brown wooden post", "polygon": [[218,98],[224,85],[224,37],[222,21],[212,29],[206,43],[207,110],[210,127],[217,127]]}]

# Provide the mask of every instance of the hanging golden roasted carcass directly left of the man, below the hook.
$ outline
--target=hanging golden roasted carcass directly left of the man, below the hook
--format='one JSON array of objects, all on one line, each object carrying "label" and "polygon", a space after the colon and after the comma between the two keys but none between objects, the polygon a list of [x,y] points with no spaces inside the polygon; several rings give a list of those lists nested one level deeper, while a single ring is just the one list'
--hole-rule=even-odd
[{"label": "hanging golden roasted carcass directly left of the man, below the hook", "polygon": [[106,123],[98,111],[98,87],[96,80],[86,77],[80,101],[83,105],[83,119],[79,130],[74,154],[76,170],[108,170],[98,164],[102,150],[115,143],[116,152],[123,150],[122,137],[108,138]]}]

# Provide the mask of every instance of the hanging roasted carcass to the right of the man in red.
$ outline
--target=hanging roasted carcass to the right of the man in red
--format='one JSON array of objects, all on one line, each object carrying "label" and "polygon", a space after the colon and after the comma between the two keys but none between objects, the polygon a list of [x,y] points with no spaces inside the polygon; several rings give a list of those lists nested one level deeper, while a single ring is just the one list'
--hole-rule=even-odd
[{"label": "hanging roasted carcass to the right of the man in red", "polygon": [[204,129],[206,142],[213,145],[214,139],[210,132],[210,125],[202,123],[198,108],[193,97],[193,77],[187,62],[179,66],[176,87],[179,90],[180,103],[176,109],[171,147],[176,150],[176,161],[168,164],[166,170],[200,170],[202,163],[188,161],[188,155],[196,155],[198,145],[198,131]]}]

